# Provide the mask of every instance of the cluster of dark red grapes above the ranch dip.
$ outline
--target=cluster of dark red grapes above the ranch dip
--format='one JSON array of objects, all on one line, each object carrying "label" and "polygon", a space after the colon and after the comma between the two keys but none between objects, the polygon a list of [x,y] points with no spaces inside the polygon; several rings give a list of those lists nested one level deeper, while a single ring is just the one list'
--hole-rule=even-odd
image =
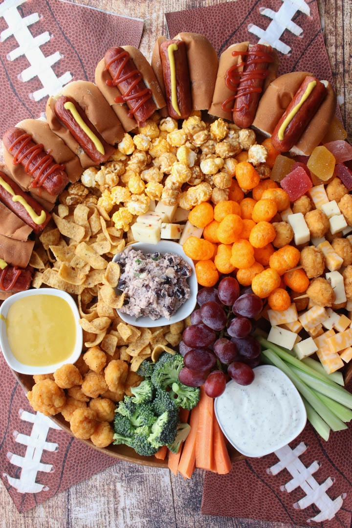
[{"label": "cluster of dark red grapes above the ranch dip", "polygon": [[263,309],[262,299],[250,287],[240,291],[235,278],[225,277],[217,289],[199,290],[197,303],[192,325],[179,344],[185,365],[179,381],[191,387],[204,383],[211,398],[224,392],[230,378],[249,385],[254,380],[253,367],[260,363],[260,344],[250,334],[255,328],[253,317]]}]

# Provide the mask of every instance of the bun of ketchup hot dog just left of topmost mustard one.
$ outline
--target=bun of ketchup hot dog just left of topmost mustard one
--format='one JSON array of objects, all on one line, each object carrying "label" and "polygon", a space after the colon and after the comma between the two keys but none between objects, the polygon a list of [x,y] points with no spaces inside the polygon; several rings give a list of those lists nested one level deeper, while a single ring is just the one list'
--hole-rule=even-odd
[{"label": "bun of ketchup hot dog just left of topmost mustard one", "polygon": [[[145,56],[134,46],[121,46],[121,48],[129,53],[130,58],[136,66],[136,69],[142,74],[146,87],[150,88],[153,92],[153,100],[156,107],[158,109],[164,108],[166,106],[166,102],[163,91],[161,90],[158,79],[156,78],[155,73]],[[115,111],[125,131],[129,132],[130,130],[133,130],[137,127],[136,120],[128,117],[129,108],[126,103],[115,102],[115,98],[121,96],[121,92],[116,86],[108,86],[106,81],[111,81],[111,75],[105,70],[105,68],[106,62],[104,59],[102,59],[96,68],[95,78],[97,87],[100,89],[102,95],[108,101],[113,111]]]}]

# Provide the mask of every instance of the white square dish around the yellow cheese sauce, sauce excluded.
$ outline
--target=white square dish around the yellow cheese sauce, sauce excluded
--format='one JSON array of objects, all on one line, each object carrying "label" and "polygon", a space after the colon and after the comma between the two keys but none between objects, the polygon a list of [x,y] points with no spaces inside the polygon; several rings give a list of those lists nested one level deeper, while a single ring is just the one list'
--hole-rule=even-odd
[{"label": "white square dish around the yellow cheese sauce, sauce excluded", "polygon": [[[9,310],[9,307],[18,299],[22,299],[23,297],[28,297],[30,295],[55,295],[56,297],[61,297],[64,299],[70,306],[74,320],[76,323],[76,344],[74,347],[74,350],[70,357],[67,357],[64,361],[61,361],[60,363],[55,363],[53,365],[47,365],[47,366],[30,366],[25,365],[23,363],[20,363],[13,355],[11,348],[9,347],[8,340],[7,340],[7,334],[6,334],[6,323],[3,318],[0,318],[0,347],[2,349],[3,355],[5,357],[5,360],[11,369],[15,370],[16,372],[20,372],[21,374],[50,374],[54,372],[56,369],[59,369],[62,365],[65,365],[66,363],[75,363],[82,352],[82,344],[83,344],[83,333],[82,333],[82,327],[79,324],[80,314],[78,312],[78,308],[72,299],[71,295],[66,293],[62,290],[57,290],[55,288],[39,288],[39,289],[30,289],[26,291],[20,291],[17,294],[12,295],[11,297],[8,297],[3,304],[0,306],[0,315],[2,315],[4,318],[7,316],[7,312]],[[21,329],[19,329],[21,331]],[[62,329],[64,332],[64,328]]]}]

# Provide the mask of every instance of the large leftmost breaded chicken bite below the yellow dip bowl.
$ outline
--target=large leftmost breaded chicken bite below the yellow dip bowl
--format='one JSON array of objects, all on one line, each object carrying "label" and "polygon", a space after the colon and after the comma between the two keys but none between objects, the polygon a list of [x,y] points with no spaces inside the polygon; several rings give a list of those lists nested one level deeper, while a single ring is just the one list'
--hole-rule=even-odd
[{"label": "large leftmost breaded chicken bite below the yellow dip bowl", "polygon": [[33,409],[45,416],[58,414],[66,403],[63,389],[52,380],[39,381],[33,385],[32,390],[27,392],[27,398]]}]

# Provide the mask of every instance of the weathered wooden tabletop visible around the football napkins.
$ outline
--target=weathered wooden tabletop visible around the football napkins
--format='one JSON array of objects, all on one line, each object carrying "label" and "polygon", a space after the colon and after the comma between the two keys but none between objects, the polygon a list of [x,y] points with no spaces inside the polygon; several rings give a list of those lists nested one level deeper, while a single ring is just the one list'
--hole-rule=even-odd
[{"label": "weathered wooden tabletop visible around the football napkins", "polygon": [[[226,0],[79,0],[121,15],[144,19],[140,50],[150,59],[156,37],[166,34],[164,12]],[[263,5],[265,1],[263,0]],[[352,2],[318,0],[325,43],[341,114],[352,138]],[[119,462],[72,486],[25,514],[18,514],[0,481],[1,528],[288,528],[282,523],[200,514],[204,472],[191,480],[168,469]]]}]

